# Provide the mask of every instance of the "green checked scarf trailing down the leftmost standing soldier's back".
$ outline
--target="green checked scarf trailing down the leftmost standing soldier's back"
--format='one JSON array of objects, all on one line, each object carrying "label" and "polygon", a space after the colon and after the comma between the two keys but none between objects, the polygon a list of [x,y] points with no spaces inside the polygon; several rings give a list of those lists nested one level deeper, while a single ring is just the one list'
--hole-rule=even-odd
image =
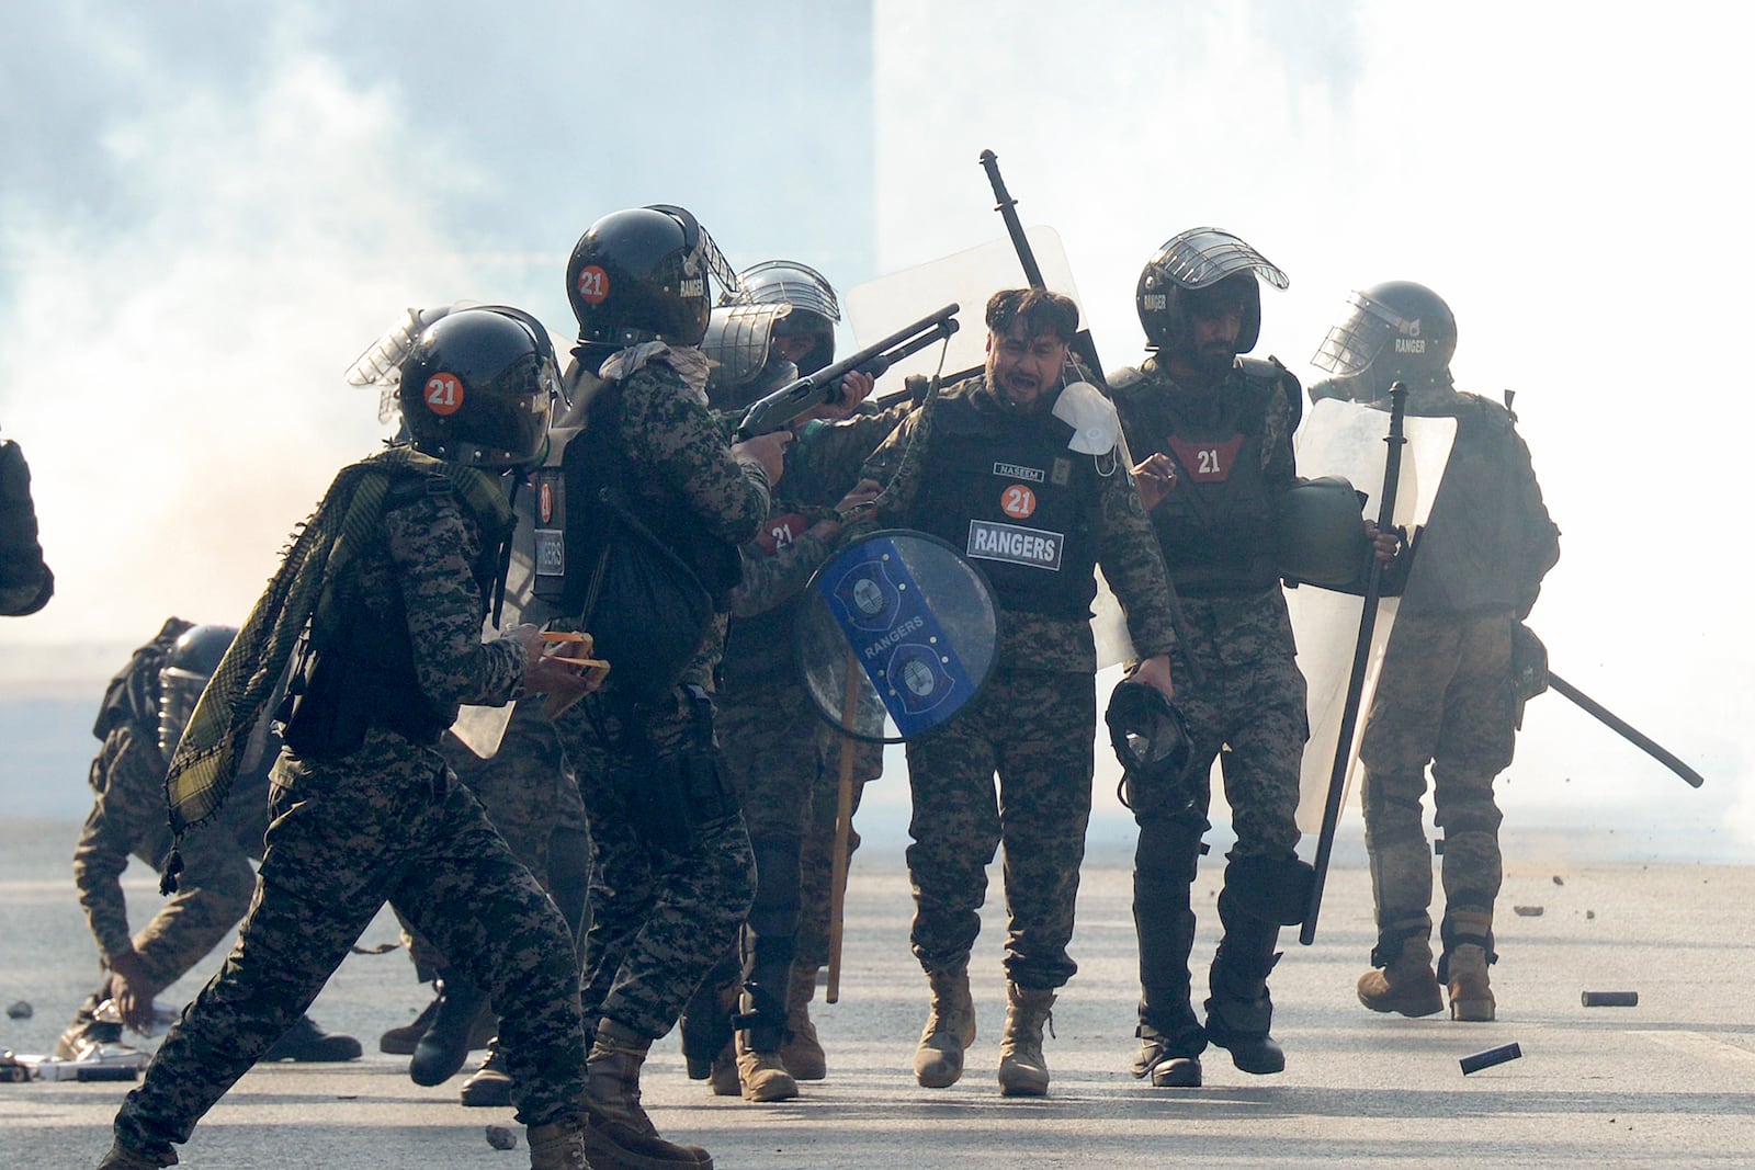
[{"label": "green checked scarf trailing down the leftmost standing soldier's back", "polygon": [[[300,633],[307,624],[328,626],[339,619],[337,595],[360,549],[383,524],[390,486],[411,474],[449,479],[463,503],[484,521],[484,531],[509,530],[512,514],[495,472],[444,463],[407,446],[344,467],[311,517],[295,530],[281,567],[190,716],[190,728],[165,774],[176,842],[219,812],[251,737],[279,695]],[[160,882],[165,893],[176,889],[181,868],[174,844]]]}]

